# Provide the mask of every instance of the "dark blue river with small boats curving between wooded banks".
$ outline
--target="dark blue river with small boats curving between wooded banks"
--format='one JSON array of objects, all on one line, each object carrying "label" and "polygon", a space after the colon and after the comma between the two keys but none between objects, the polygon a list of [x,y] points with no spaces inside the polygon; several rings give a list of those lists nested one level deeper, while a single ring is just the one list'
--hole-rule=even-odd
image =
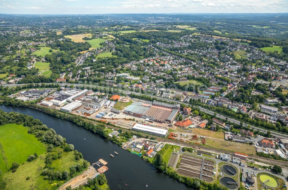
[{"label": "dark blue river with small boats curving between wooded banks", "polygon": [[[103,158],[108,162],[109,170],[105,172],[108,185],[114,189],[193,189],[176,179],[157,170],[152,164],[144,161],[138,155],[124,151],[117,144],[102,138],[99,135],[79,127],[64,119],[52,117],[31,108],[0,105],[5,112],[19,112],[28,114],[41,120],[45,125],[54,129],[57,134],[66,138],[68,144],[73,144],[75,150],[82,153],[90,163]],[[84,141],[84,138],[86,139]],[[118,155],[114,154],[118,152]],[[114,158],[110,157],[114,155]],[[95,166],[97,167],[97,166]],[[97,168],[96,168],[97,169]],[[127,186],[126,186],[127,184]],[[148,185],[148,187],[146,187]]]}]

